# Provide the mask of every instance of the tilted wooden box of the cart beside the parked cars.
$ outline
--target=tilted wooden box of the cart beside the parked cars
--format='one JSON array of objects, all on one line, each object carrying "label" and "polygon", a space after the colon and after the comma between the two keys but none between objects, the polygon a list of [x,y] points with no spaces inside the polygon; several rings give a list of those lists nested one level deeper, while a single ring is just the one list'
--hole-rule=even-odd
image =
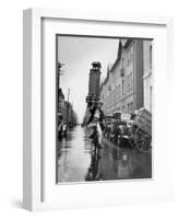
[{"label": "tilted wooden box of the cart beside the parked cars", "polygon": [[147,110],[140,108],[134,123],[141,130],[145,131],[150,136],[152,135],[152,114]]}]

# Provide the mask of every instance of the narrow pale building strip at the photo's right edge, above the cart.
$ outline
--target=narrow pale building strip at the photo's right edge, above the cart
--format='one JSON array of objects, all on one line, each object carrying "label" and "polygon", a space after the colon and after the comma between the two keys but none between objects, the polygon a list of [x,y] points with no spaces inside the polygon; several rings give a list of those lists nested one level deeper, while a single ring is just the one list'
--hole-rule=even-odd
[{"label": "narrow pale building strip at the photo's right edge, above the cart", "polygon": [[144,107],[152,112],[152,69],[153,69],[153,60],[152,60],[152,41],[143,42],[143,84],[144,84]]}]

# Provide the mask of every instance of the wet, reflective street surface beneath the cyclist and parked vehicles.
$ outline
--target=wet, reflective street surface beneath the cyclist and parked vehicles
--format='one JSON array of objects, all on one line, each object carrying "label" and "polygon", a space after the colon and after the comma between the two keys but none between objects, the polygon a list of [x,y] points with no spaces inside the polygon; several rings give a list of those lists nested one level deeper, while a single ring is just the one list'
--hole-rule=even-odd
[{"label": "wet, reflective street surface beneath the cyclist and parked vehicles", "polygon": [[59,141],[58,182],[152,177],[152,153],[103,140],[99,155],[91,149],[90,132],[76,126]]}]

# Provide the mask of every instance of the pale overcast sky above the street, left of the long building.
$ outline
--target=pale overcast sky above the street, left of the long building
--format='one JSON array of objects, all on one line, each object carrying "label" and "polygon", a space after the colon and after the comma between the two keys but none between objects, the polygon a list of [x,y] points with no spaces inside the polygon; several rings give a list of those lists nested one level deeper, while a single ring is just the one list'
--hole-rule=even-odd
[{"label": "pale overcast sky above the street, left of the long building", "polygon": [[104,80],[107,66],[114,64],[117,58],[119,38],[96,38],[79,36],[58,37],[58,61],[62,66],[60,88],[62,88],[66,100],[70,89],[69,102],[78,114],[79,123],[83,120],[88,93],[88,76],[93,61],[102,64],[102,76]]}]

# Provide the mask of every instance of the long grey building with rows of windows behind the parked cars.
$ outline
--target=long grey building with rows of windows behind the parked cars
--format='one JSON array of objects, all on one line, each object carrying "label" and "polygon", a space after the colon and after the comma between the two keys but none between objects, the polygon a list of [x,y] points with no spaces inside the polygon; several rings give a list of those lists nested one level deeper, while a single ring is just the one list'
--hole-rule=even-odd
[{"label": "long grey building with rows of windows behind the parked cars", "polygon": [[115,64],[100,85],[103,110],[132,113],[143,107],[143,41],[120,39]]}]

